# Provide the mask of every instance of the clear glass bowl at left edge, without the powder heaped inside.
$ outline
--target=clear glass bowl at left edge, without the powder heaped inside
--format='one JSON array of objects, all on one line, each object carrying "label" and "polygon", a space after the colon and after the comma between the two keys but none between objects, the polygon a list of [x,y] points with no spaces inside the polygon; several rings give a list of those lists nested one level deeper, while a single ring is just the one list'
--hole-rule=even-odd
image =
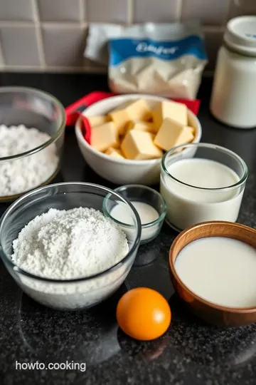
[{"label": "clear glass bowl at left edge, without the powder heaped inside", "polygon": [[[47,133],[49,139],[26,152],[0,158],[0,202],[16,200],[28,191],[48,185],[60,170],[65,136],[65,110],[54,96],[34,88],[0,88],[0,125],[25,125]],[[46,160],[50,159],[49,164]],[[36,163],[37,178],[31,173],[31,162]],[[46,163],[46,164],[45,164]],[[7,186],[4,170],[16,170],[11,175],[12,186]],[[21,178],[21,169],[23,169]],[[11,173],[11,171],[10,171]]]}]

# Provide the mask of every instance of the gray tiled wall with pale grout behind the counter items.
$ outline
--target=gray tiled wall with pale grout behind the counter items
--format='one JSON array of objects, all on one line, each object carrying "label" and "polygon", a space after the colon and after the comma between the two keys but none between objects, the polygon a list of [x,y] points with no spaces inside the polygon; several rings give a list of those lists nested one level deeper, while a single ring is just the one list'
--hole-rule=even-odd
[{"label": "gray tiled wall with pale grout behind the counter items", "polygon": [[256,0],[0,0],[0,69],[104,71],[82,55],[91,22],[200,19],[212,71],[226,22],[256,15]]}]

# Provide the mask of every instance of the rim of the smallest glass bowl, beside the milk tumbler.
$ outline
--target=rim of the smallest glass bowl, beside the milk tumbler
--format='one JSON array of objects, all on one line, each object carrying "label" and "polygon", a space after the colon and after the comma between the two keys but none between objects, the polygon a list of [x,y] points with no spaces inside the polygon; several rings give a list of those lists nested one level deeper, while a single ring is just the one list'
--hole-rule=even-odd
[{"label": "rim of the smallest glass bowl, beside the milk tumbler", "polygon": [[[167,205],[166,205],[166,201],[164,200],[164,198],[161,196],[161,194],[154,190],[154,188],[149,188],[148,186],[144,186],[144,185],[122,185],[118,188],[115,188],[114,189],[114,192],[121,192],[122,190],[127,190],[128,188],[141,188],[142,190],[148,190],[150,191],[151,193],[154,193],[155,195],[157,195],[157,197],[159,197],[162,201],[162,204],[163,204],[163,210],[161,212],[161,215],[159,215],[159,217],[156,219],[156,220],[153,220],[153,222],[149,222],[149,223],[145,223],[144,225],[142,225],[142,229],[147,229],[149,227],[152,227],[154,225],[157,225],[161,222],[163,222],[164,218],[166,217],[166,213],[167,213]],[[107,210],[107,207],[106,207],[106,200],[108,200],[109,198],[106,196],[105,197],[105,200],[103,202],[103,211],[105,212],[105,214],[110,217],[112,220],[114,220],[114,222],[117,223],[117,225],[122,225],[123,227],[127,227],[127,228],[132,228],[133,226],[132,225],[129,225],[127,223],[124,223],[124,222],[120,222],[119,220],[116,220],[114,219],[111,215],[110,215],[110,212],[108,212]]]}]

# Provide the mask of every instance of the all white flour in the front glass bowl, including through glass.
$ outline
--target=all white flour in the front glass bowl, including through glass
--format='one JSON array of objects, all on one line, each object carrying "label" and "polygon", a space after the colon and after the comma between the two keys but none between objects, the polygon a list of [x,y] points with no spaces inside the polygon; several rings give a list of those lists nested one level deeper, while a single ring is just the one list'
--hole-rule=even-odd
[{"label": "all white flour in the front glass bowl, including through glass", "polygon": [[[73,279],[102,272],[129,251],[127,238],[112,220],[92,208],[50,209],[28,223],[13,242],[13,262],[41,277]],[[135,257],[135,254],[134,254]],[[117,270],[74,283],[39,281],[18,274],[23,291],[58,309],[79,309],[102,301],[127,277],[133,258]]]}]

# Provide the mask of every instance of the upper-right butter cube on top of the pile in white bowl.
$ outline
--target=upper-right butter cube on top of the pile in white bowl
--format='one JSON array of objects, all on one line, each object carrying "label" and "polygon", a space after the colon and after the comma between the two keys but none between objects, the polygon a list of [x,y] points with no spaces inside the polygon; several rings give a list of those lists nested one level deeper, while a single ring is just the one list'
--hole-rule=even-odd
[{"label": "upper-right butter cube on top of the pile in white bowl", "polygon": [[177,123],[188,125],[188,110],[185,104],[174,101],[161,101],[152,110],[153,122],[156,132],[161,127],[165,118],[171,118]]}]

